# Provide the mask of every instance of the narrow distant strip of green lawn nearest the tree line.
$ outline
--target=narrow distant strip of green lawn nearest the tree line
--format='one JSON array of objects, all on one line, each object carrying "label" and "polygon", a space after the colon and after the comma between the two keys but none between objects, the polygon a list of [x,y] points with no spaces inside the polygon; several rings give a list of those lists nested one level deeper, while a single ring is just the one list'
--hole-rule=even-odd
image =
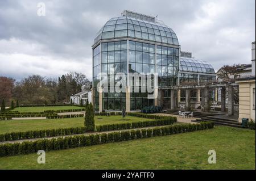
[{"label": "narrow distant strip of green lawn nearest the tree line", "polygon": [[81,109],[79,106],[42,106],[42,107],[17,107],[14,111],[19,112],[43,112],[47,110],[72,110]]}]

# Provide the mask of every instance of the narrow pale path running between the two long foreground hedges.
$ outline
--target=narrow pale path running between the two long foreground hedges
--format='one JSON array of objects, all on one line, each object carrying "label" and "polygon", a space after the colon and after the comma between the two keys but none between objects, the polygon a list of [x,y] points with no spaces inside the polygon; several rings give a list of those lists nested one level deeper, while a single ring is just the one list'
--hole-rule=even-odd
[{"label": "narrow pale path running between the two long foreground hedges", "polygon": [[[174,123],[175,124],[181,124],[181,123]],[[198,124],[198,123],[197,123]],[[63,135],[63,136],[54,136],[54,137],[44,137],[44,138],[32,138],[32,139],[26,139],[26,140],[14,140],[14,141],[3,141],[0,142],[0,145],[2,144],[13,144],[15,142],[24,142],[24,141],[37,141],[37,140],[50,140],[52,138],[59,138],[59,137],[72,137],[72,136],[80,136],[80,135],[90,135],[90,134],[101,134],[101,133],[111,133],[111,132],[124,132],[124,131],[130,131],[130,130],[137,130],[137,129],[151,129],[151,128],[160,128],[160,127],[168,127],[170,125],[161,125],[156,127],[143,127],[143,128],[130,128],[130,129],[118,129],[114,131],[105,131],[105,132],[88,132],[88,133],[82,133],[82,134],[69,134],[69,135]]]}]

